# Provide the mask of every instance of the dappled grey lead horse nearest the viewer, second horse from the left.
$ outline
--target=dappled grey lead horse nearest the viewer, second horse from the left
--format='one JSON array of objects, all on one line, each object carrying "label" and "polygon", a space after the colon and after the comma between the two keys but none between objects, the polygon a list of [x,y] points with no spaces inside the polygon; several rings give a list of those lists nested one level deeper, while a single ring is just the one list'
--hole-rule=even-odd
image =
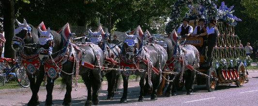
[{"label": "dappled grey lead horse nearest the viewer, second horse from the left", "polygon": [[[99,103],[98,93],[102,78],[100,67],[104,61],[104,54],[101,48],[91,43],[84,45],[70,43],[69,36],[71,33],[68,23],[62,28],[61,34],[52,30],[39,31],[42,36],[42,39],[39,39],[40,60],[45,62],[45,69],[49,69],[46,70],[48,71],[46,105],[53,105],[52,90],[54,80],[57,78],[56,76],[59,76],[57,73],[61,73],[62,83],[66,84],[66,94],[63,105],[71,105],[72,77],[74,73],[76,73],[77,67],[79,67],[79,74],[82,76],[88,89],[88,97],[85,105],[91,105],[91,101],[93,101],[94,105],[97,105]],[[77,64],[79,60],[80,66]],[[46,65],[46,63],[49,64],[49,62],[55,63],[50,64],[52,65],[52,70],[50,70],[49,65]],[[54,65],[56,65],[56,68],[53,67]],[[54,69],[56,72],[53,72]],[[49,71],[52,72],[50,73]],[[55,75],[55,73],[57,75]]]}]

